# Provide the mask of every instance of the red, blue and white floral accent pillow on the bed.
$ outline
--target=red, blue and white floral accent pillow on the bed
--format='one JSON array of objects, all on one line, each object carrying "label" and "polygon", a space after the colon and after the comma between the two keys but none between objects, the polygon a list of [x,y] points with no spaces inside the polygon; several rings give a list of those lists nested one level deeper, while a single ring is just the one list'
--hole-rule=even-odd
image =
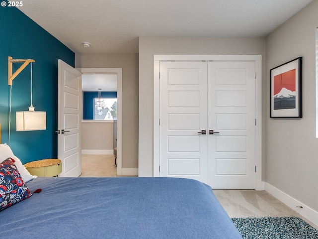
[{"label": "red, blue and white floral accent pillow on the bed", "polygon": [[14,159],[7,158],[0,163],[0,211],[31,195],[14,164]]}]

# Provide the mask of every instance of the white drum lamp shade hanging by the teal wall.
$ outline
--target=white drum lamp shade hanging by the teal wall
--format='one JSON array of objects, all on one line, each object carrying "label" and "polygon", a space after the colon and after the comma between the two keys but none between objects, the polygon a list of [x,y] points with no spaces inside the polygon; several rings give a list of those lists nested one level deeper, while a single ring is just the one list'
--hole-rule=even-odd
[{"label": "white drum lamp shade hanging by the teal wall", "polygon": [[16,131],[31,131],[44,129],[46,129],[46,112],[16,112]]}]

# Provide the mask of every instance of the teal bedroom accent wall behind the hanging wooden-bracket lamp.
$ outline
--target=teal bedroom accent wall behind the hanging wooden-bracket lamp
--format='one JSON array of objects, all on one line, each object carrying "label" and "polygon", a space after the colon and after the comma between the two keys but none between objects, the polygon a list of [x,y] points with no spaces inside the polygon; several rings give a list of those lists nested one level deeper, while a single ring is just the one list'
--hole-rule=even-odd
[{"label": "teal bedroom accent wall behind the hanging wooden-bracket lamp", "polygon": [[[23,7],[23,6],[22,6]],[[57,158],[58,59],[75,65],[75,53],[16,7],[0,7],[0,123],[1,143],[8,143],[9,96],[8,56],[34,59],[33,106],[45,111],[47,129],[16,131],[15,112],[28,111],[31,99],[31,65],[12,85],[10,147],[22,163]],[[62,26],[61,26],[62,27]],[[13,64],[13,72],[22,65]]]}]

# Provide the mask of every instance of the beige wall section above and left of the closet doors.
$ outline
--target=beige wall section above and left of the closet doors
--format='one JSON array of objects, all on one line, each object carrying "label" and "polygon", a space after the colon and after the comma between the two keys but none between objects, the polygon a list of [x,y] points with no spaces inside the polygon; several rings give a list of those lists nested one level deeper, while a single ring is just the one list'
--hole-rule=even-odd
[{"label": "beige wall section above and left of the closet doors", "polygon": [[140,37],[139,176],[153,176],[154,55],[165,54],[263,55],[265,69],[265,38]]}]

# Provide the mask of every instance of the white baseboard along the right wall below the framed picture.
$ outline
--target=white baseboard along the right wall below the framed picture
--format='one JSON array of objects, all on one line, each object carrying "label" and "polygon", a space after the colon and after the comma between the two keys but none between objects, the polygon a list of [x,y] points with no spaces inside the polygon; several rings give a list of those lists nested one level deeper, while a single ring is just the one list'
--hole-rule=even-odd
[{"label": "white baseboard along the right wall below the framed picture", "polygon": [[[308,219],[312,223],[318,226],[318,212],[314,209],[306,206],[302,202],[296,200],[295,198],[289,196],[288,194],[284,193],[283,191],[275,188],[269,183],[265,182],[265,191],[277,198],[279,201],[286,204],[288,207],[302,215],[304,218]],[[303,208],[296,208],[298,206],[302,206]]]}]

